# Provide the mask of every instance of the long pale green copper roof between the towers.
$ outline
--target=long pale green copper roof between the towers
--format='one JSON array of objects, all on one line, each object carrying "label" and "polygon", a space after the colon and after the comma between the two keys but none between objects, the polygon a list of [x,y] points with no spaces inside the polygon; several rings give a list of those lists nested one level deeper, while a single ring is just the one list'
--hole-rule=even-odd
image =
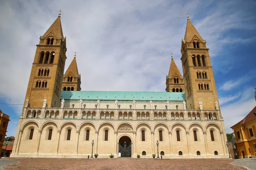
[{"label": "long pale green copper roof between the towers", "polygon": [[154,100],[183,101],[184,92],[141,92],[141,91],[61,91],[65,100]]}]

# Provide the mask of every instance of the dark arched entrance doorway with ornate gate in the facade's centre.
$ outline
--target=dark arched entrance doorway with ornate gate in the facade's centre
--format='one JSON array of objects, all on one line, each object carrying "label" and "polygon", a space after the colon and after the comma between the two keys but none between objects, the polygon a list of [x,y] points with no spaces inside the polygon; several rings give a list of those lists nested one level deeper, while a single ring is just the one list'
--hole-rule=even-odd
[{"label": "dark arched entrance doorway with ornate gate in the facade's centre", "polygon": [[121,157],[131,157],[131,139],[128,136],[122,136],[118,145],[118,153],[121,153]]}]

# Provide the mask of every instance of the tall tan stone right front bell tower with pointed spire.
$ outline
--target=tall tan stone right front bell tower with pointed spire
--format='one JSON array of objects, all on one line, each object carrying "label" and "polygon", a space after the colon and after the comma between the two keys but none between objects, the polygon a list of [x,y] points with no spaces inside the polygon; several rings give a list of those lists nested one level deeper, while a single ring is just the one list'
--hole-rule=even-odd
[{"label": "tall tan stone right front bell tower with pointed spire", "polygon": [[181,42],[183,79],[186,91],[187,109],[199,109],[199,101],[204,110],[214,110],[218,95],[206,40],[191,23],[187,13],[184,40]]}]

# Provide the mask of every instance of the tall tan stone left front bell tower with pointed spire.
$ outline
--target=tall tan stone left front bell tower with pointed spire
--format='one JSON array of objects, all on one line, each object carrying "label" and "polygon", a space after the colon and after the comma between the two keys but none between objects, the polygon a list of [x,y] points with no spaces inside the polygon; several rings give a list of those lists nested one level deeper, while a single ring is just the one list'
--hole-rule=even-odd
[{"label": "tall tan stone left front bell tower with pointed spire", "polygon": [[61,27],[61,10],[49,29],[40,36],[39,44],[36,46],[24,104],[29,98],[27,107],[42,107],[46,98],[47,108],[59,107],[67,59],[66,37],[63,36]]}]

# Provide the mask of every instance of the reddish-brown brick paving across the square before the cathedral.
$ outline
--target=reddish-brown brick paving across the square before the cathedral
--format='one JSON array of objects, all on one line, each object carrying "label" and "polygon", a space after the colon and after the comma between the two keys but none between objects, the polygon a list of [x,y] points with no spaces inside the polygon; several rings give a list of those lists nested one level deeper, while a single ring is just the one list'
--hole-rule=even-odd
[{"label": "reddish-brown brick paving across the square before the cathedral", "polygon": [[246,170],[230,164],[233,159],[47,159],[9,158],[20,161],[7,170]]}]

